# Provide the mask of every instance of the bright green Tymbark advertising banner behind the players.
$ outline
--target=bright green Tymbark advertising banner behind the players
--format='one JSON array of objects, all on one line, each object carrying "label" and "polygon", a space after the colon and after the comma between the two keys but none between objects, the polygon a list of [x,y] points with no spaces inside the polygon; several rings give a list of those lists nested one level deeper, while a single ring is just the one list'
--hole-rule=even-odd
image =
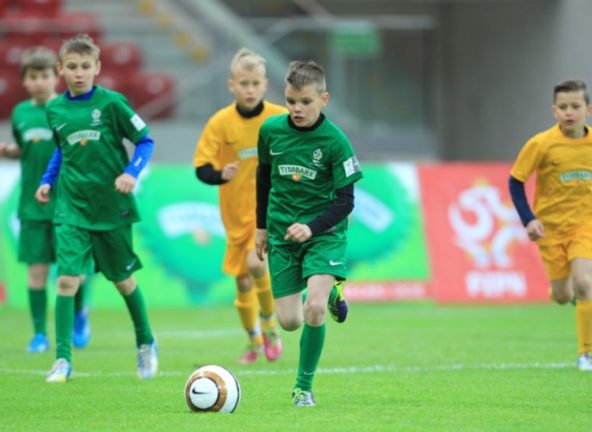
[{"label": "bright green Tymbark advertising banner behind the players", "polygon": [[[363,170],[349,221],[349,279],[427,281],[415,167],[368,164]],[[6,303],[26,307],[27,268],[16,262],[18,172],[3,169],[0,183],[10,185],[4,193],[0,188],[0,288],[5,287]],[[136,195],[142,221],[134,227],[134,248],[144,265],[136,277],[149,305],[230,304],[235,285],[221,270],[226,239],[218,188],[199,182],[191,166],[154,164],[142,176]],[[54,290],[55,269],[50,279],[49,288]],[[123,306],[102,275],[92,278],[91,287],[93,307]]]}]

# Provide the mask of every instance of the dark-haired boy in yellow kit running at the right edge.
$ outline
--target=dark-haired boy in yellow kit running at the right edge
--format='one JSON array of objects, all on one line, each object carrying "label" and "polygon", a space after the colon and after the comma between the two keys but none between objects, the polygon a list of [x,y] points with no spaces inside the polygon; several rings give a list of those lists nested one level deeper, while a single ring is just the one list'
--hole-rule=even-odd
[{"label": "dark-haired boy in yellow kit running at the right edge", "polygon": [[[578,367],[592,371],[592,113],[586,84],[563,81],[554,89],[557,124],[531,138],[514,162],[512,201],[536,241],[553,299],[575,294]],[[524,183],[536,173],[534,213]]]}]

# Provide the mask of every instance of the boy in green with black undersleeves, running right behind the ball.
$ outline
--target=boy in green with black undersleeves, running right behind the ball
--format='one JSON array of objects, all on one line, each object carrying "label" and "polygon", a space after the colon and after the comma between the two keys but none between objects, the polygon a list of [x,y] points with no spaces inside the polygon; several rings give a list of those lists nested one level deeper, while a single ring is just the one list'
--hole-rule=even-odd
[{"label": "boy in green with black undersleeves, running right behind the ball", "polygon": [[327,304],[336,321],[347,314],[340,282],[353,185],[362,172],[345,134],[321,113],[329,93],[320,65],[290,63],[285,98],[289,114],[270,117],[259,130],[255,247],[260,259],[268,252],[280,325],[293,331],[304,322],[292,399],[314,406]]}]

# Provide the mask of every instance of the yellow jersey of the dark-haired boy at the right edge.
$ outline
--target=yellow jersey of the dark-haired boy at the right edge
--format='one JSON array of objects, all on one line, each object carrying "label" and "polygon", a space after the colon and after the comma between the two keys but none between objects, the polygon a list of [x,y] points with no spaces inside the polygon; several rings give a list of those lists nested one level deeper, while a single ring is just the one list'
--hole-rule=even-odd
[{"label": "yellow jersey of the dark-haired boy at the right edge", "polygon": [[520,151],[511,174],[526,182],[536,172],[534,213],[546,240],[583,225],[592,225],[592,130],[568,138],[555,125],[531,138]]}]

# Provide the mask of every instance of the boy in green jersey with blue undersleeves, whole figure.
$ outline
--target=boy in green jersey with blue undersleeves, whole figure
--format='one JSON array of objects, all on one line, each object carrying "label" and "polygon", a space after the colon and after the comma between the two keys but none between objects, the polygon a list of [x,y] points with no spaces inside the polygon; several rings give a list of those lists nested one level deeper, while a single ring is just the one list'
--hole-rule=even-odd
[{"label": "boy in green jersey with blue undersleeves, whole figure", "polygon": [[[99,53],[87,35],[64,42],[58,70],[68,90],[47,106],[57,149],[35,195],[42,203],[50,202],[59,176],[54,215],[56,362],[47,382],[62,383],[70,377],[73,296],[91,259],[125,300],[136,334],[139,377],[152,378],[158,370],[156,342],[133,277],[142,265],[132,246],[132,223],[140,220],[132,192],[154,141],[123,95],[93,85],[101,70]],[[131,161],[124,138],[136,145]]]}]

